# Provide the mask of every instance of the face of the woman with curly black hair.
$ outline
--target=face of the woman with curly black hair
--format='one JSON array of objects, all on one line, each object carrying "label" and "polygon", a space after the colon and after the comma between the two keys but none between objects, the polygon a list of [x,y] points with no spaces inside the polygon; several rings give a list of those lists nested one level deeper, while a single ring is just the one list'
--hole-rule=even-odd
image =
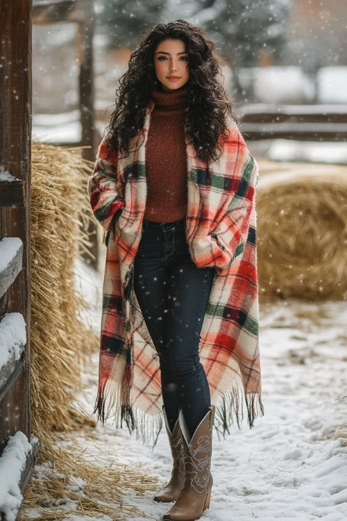
[{"label": "face of the woman with curly black hair", "polygon": [[162,90],[177,90],[189,80],[188,55],[182,40],[163,40],[154,53],[155,74]]}]

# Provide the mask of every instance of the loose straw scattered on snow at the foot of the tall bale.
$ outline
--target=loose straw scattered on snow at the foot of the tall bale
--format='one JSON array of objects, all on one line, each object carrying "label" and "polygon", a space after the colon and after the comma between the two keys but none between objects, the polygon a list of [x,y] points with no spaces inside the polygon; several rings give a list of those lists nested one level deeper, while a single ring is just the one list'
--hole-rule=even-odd
[{"label": "loose straw scattered on snow at the foot of the tall bale", "polygon": [[123,497],[130,491],[142,495],[155,490],[157,480],[106,463],[87,462],[83,454],[66,450],[58,452],[50,468],[37,470],[29,481],[19,519],[31,518],[31,512],[36,521],[67,519],[71,513],[85,519],[106,515],[115,521],[126,520],[129,515],[153,519],[124,502]]}]

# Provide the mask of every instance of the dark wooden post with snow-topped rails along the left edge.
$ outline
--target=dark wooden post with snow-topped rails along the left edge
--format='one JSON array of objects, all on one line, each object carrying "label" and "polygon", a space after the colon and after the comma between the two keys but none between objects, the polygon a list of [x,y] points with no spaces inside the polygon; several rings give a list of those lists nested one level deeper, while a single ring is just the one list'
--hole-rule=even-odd
[{"label": "dark wooden post with snow-topped rails along the left edge", "polygon": [[0,514],[7,520],[17,515],[38,445],[30,414],[31,0],[1,1],[0,34]]}]

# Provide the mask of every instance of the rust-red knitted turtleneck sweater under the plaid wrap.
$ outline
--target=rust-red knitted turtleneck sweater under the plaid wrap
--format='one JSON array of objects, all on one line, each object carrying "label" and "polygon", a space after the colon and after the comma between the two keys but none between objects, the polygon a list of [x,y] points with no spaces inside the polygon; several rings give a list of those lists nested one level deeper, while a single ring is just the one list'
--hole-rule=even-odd
[{"label": "rust-red knitted turtleneck sweater under the plaid wrap", "polygon": [[187,158],[184,89],[153,92],[146,146],[147,200],[144,218],[154,222],[184,219],[187,213]]}]

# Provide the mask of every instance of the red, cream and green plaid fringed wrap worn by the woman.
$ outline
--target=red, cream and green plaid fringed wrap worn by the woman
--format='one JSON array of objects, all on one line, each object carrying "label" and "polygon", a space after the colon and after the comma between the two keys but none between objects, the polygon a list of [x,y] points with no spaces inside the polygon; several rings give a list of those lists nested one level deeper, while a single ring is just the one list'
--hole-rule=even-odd
[{"label": "red, cream and green plaid fringed wrap worn by the woman", "polygon": [[[115,416],[142,436],[158,433],[162,398],[158,356],[133,291],[133,262],[146,205],[146,140],[151,111],[133,151],[121,157],[101,142],[88,189],[106,235],[99,391],[103,420]],[[258,349],[255,185],[257,165],[237,125],[217,161],[203,163],[187,142],[186,235],[198,267],[215,276],[201,331],[201,363],[216,405],[216,424],[228,431],[243,416],[262,414]],[[148,413],[148,414],[146,414]],[[156,420],[148,422],[148,419]],[[153,427],[153,429],[151,428]]]}]

